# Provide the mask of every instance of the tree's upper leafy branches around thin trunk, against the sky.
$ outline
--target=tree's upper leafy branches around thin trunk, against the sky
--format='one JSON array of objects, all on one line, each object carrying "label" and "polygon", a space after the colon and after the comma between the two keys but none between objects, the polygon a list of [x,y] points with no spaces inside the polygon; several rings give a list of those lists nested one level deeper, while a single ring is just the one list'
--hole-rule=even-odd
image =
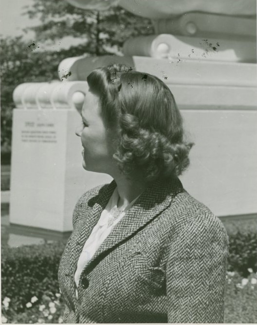
[{"label": "tree's upper leafy branches around thin trunk, against the sky", "polygon": [[63,0],[34,0],[25,12],[39,18],[41,24],[29,28],[36,32],[37,41],[56,40],[65,36],[84,38],[89,52],[102,55],[108,48],[121,49],[129,37],[154,33],[150,19],[135,16],[120,7],[104,11],[75,8]]}]

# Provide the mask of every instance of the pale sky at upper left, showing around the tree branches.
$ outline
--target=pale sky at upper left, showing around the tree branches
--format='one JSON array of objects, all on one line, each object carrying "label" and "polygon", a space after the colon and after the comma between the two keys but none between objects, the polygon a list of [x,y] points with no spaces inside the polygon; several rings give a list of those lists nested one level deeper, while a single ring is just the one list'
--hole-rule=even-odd
[{"label": "pale sky at upper left, showing around the tree branches", "polygon": [[[25,5],[32,5],[34,0],[0,0],[0,34],[3,37],[20,36],[25,40],[33,40],[34,32],[30,31],[25,34],[22,29],[26,27],[36,26],[40,23],[39,19],[29,19],[28,16],[22,15],[25,11]],[[60,41],[53,42],[48,46],[40,45],[41,50],[48,49],[58,51],[61,48],[69,48],[71,45],[77,45],[84,42],[84,39],[65,37]]]}]

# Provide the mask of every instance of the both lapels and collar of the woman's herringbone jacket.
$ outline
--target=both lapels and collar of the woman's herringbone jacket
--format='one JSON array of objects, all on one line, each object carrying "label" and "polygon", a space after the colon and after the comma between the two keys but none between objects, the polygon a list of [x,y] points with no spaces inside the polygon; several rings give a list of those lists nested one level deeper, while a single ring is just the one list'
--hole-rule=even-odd
[{"label": "both lapels and collar of the woman's herringbone jacket", "polygon": [[[86,231],[86,237],[90,235],[90,230],[97,223],[103,209],[107,205],[112,192],[116,187],[113,180],[103,189],[101,194],[94,198],[94,206],[92,209],[90,226]],[[97,249],[91,261],[86,267],[87,273],[94,268],[97,261],[108,253],[119,243],[125,241],[139,229],[146,226],[151,220],[160,215],[168,206],[171,205],[173,198],[183,191],[180,180],[176,177],[172,180],[158,180],[151,184],[136,200],[134,205],[128,210],[125,216],[110,232],[106,240]]]}]

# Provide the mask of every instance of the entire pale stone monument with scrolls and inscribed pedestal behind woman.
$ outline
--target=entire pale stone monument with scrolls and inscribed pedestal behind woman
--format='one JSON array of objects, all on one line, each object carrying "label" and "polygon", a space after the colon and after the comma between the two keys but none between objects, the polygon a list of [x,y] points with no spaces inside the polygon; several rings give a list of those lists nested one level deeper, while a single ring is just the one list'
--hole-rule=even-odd
[{"label": "entire pale stone monument with scrolls and inscribed pedestal behind woman", "polygon": [[[153,20],[155,35],[128,39],[124,57],[71,57],[68,81],[19,85],[14,92],[12,224],[72,229],[79,195],[110,177],[81,168],[73,130],[86,77],[125,63],[164,80],[195,142],[184,187],[220,217],[254,216],[257,194],[256,1],[68,0],[84,9],[120,5]],[[255,136],[255,137],[254,137]]]}]

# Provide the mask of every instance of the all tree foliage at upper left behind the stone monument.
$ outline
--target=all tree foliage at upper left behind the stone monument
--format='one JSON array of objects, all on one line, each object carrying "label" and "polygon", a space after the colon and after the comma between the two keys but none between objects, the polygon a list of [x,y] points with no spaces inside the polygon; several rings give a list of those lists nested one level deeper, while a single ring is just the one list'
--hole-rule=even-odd
[{"label": "all tree foliage at upper left behind the stone monument", "polygon": [[[58,64],[66,57],[119,53],[127,38],[154,33],[149,19],[119,7],[97,12],[75,8],[63,0],[34,0],[24,9],[29,18],[41,21],[27,29],[35,31],[36,41],[25,42],[21,36],[0,38],[1,153],[6,157],[10,157],[11,150],[15,87],[23,82],[58,79]],[[42,43],[66,36],[80,38],[81,44],[58,51],[40,50]]]}]

